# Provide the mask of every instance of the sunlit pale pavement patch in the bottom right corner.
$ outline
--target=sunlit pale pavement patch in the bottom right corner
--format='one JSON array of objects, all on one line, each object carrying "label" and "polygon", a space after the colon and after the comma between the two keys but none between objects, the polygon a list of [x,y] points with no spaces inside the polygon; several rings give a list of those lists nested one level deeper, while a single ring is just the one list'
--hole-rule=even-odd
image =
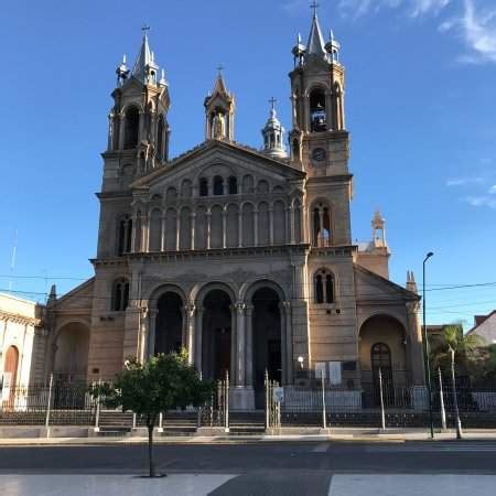
[{"label": "sunlit pale pavement patch in the bottom right corner", "polygon": [[328,496],[494,496],[496,475],[334,475]]}]

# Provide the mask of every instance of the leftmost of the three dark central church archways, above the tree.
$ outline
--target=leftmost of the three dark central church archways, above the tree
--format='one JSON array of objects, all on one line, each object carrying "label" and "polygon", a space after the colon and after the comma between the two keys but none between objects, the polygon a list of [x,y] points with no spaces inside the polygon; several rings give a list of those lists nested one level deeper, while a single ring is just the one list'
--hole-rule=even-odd
[{"label": "leftmost of the three dark central church archways, above the tree", "polygon": [[154,354],[179,352],[183,346],[183,300],[168,291],[159,298],[155,321]]}]

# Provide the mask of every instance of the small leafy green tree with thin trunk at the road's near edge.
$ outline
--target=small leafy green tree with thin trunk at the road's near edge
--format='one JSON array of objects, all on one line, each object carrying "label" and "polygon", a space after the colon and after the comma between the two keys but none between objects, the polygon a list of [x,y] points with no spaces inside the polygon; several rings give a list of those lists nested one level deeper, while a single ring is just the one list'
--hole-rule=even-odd
[{"label": "small leafy green tree with thin trunk at the road's near edge", "polygon": [[200,407],[211,398],[211,382],[202,380],[187,363],[186,352],[158,355],[144,364],[132,358],[117,374],[114,382],[91,388],[107,408],[131,410],[142,417],[148,429],[150,477],[155,477],[153,461],[153,429],[160,412],[187,406]]}]

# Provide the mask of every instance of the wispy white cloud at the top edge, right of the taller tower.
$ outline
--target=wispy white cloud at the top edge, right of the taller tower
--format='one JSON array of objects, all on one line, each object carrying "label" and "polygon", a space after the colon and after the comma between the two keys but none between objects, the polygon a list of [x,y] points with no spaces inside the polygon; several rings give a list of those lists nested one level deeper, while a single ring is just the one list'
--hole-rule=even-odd
[{"label": "wispy white cloud at the top edge, right of the taller tower", "polygon": [[413,18],[427,13],[439,13],[453,0],[339,0],[338,7],[344,14],[353,17],[364,15],[365,13],[378,11],[384,8],[397,9],[406,8]]}]

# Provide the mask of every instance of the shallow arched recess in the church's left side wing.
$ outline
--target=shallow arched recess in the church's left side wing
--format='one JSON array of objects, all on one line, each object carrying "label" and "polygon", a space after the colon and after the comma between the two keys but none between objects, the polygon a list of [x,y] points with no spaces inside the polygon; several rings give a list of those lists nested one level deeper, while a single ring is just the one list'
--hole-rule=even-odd
[{"label": "shallow arched recess in the church's left side wing", "polygon": [[66,324],[55,342],[54,375],[58,385],[86,381],[89,330],[79,322]]}]

